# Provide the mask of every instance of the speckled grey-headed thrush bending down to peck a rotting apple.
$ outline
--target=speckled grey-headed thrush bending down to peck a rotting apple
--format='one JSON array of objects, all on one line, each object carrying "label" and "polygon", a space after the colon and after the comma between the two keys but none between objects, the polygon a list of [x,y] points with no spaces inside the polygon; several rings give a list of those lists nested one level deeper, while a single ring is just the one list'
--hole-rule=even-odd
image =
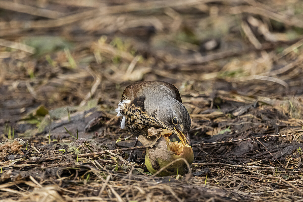
[{"label": "speckled grey-headed thrush bending down to peck a rotting apple", "polygon": [[173,131],[184,146],[191,146],[191,118],[173,84],[165,81],[132,83],[123,91],[115,111],[117,116],[122,116],[121,129],[127,129],[137,137],[135,146],[138,136],[147,136],[147,130],[151,127]]}]

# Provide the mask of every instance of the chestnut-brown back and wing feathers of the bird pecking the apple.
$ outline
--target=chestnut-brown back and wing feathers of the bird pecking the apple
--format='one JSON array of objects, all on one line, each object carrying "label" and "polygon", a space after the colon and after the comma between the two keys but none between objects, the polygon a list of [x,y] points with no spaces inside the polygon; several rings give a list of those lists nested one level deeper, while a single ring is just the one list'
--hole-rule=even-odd
[{"label": "chestnut-brown back and wing feathers of the bird pecking the apple", "polygon": [[[165,81],[137,81],[133,84],[127,86],[122,94],[122,100],[134,100],[135,98],[142,98],[144,96],[144,91],[148,88],[155,88],[155,87],[165,86],[169,88],[171,91],[171,95],[173,98],[178,100],[182,103],[180,93],[178,89],[170,83]],[[160,88],[161,89],[161,88]]]}]

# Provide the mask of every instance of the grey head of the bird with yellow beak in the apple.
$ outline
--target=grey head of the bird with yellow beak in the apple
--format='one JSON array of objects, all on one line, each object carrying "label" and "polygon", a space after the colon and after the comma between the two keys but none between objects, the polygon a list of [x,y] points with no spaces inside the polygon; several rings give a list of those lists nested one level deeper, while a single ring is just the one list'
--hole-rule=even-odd
[{"label": "grey head of the bird with yellow beak in the apple", "polygon": [[188,133],[191,119],[184,105],[175,99],[169,99],[162,105],[160,110],[157,111],[159,125],[174,131],[184,145],[188,143],[191,146]]}]

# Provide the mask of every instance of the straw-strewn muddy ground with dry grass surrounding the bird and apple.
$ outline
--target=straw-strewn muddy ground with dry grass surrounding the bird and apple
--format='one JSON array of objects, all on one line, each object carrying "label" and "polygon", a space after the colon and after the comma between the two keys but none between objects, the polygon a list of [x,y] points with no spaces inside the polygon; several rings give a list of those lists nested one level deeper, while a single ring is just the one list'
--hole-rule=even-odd
[{"label": "straw-strewn muddy ground with dry grass surrounding the bird and apple", "polygon": [[[2,148],[0,201],[303,201],[301,1],[0,9],[1,141],[13,129],[24,141]],[[177,86],[192,118],[188,175],[151,176],[142,146],[125,160],[114,109],[128,84],[157,79]],[[78,127],[81,148],[108,149],[69,153],[64,127]]]}]

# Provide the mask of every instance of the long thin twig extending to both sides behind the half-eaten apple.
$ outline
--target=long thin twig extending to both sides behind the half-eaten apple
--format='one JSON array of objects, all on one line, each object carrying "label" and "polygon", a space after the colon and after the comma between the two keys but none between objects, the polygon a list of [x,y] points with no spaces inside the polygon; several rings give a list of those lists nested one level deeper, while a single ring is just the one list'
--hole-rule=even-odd
[{"label": "long thin twig extending to both sides behind the half-eaten apple", "polygon": [[[296,134],[288,134],[288,135],[266,135],[262,137],[254,137],[256,139],[261,139],[261,138],[270,138],[270,137],[289,137],[289,136],[294,136]],[[192,147],[199,147],[199,146],[205,146],[205,145],[214,145],[214,144],[224,144],[224,143],[231,143],[231,142],[241,142],[241,141],[248,141],[248,140],[253,140],[254,138],[244,138],[244,139],[238,139],[238,140],[228,140],[228,141],[221,141],[221,142],[209,142],[209,143],[199,143],[199,144],[193,144],[191,145]],[[136,146],[136,147],[127,147],[127,148],[122,148],[119,149],[118,151],[130,151],[130,150],[135,150],[135,149],[145,149],[145,146]],[[110,150],[111,152],[116,152],[117,150]],[[98,151],[98,152],[92,152],[92,153],[87,153],[87,154],[78,154],[78,158],[82,157],[90,157],[90,156],[96,156],[96,155],[101,155],[101,154],[108,154],[107,151]],[[22,161],[24,163],[33,163],[33,162],[42,162],[42,161],[55,161],[55,160],[60,160],[62,156],[57,156],[57,157],[48,157],[44,159],[35,159],[35,160],[26,160]]]}]

